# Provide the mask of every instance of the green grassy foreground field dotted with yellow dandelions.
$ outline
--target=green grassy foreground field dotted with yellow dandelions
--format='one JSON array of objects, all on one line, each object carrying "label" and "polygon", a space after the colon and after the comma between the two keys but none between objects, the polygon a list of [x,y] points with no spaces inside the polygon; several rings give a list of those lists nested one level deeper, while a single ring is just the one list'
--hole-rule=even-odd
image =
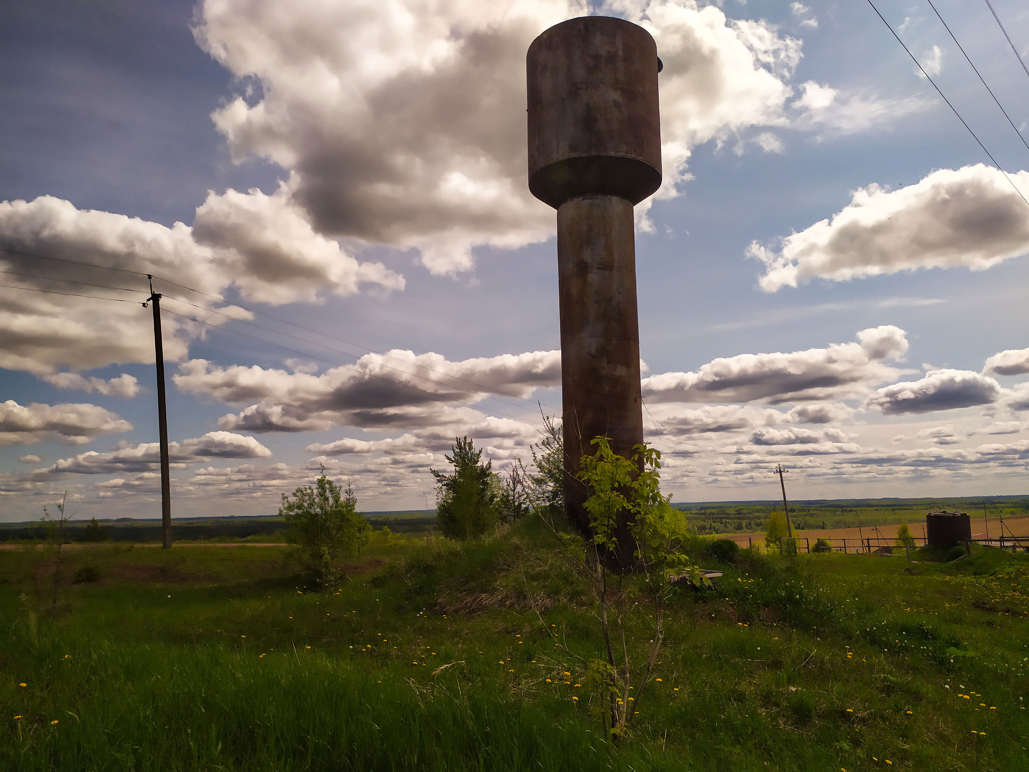
[{"label": "green grassy foreground field dotted with yellow dandelions", "polygon": [[691,549],[721,586],[676,591],[617,747],[588,588],[533,522],[377,536],[327,593],[284,548],[81,547],[54,616],[41,555],[0,553],[0,769],[1029,769],[1026,556]]}]

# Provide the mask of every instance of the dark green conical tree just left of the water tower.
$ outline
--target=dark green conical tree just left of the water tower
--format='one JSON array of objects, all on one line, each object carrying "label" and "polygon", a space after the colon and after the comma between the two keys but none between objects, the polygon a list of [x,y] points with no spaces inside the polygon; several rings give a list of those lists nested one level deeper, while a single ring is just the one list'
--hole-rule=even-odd
[{"label": "dark green conical tree just left of the water tower", "polygon": [[446,456],[454,471],[430,469],[436,479],[436,518],[450,538],[481,536],[497,522],[493,463],[483,463],[483,451],[467,436],[455,438],[453,455]]}]

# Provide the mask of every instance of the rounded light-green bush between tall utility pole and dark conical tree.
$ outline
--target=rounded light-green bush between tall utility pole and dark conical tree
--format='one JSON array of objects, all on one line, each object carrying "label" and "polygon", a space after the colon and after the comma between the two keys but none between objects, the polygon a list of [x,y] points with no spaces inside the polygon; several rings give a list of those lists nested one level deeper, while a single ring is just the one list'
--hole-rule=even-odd
[{"label": "rounded light-green bush between tall utility pole and dark conical tree", "polygon": [[322,476],[314,486],[282,494],[279,516],[286,521],[287,539],[300,548],[300,562],[317,584],[333,587],[341,573],[340,558],[355,555],[368,542],[371,526],[357,514],[357,496],[350,482],[343,489]]}]

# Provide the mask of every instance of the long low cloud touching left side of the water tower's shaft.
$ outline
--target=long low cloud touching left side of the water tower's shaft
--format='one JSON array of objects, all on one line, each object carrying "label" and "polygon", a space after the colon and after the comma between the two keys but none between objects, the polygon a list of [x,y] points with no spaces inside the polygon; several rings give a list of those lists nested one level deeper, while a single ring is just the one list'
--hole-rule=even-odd
[{"label": "long low cloud touching left side of the water tower's shaft", "polygon": [[561,352],[532,351],[454,362],[432,352],[396,349],[365,354],[353,366],[333,367],[321,375],[256,365],[219,367],[194,359],[181,364],[174,380],[182,391],[223,402],[256,400],[238,414],[223,416],[219,421],[223,429],[438,426],[461,415],[449,402],[474,403],[494,394],[524,398],[536,388],[559,385]]}]

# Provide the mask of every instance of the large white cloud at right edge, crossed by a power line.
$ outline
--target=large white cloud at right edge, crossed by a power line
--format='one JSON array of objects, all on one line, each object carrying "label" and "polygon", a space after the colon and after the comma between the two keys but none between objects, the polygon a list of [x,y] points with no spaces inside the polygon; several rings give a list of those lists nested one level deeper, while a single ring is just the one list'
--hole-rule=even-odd
[{"label": "large white cloud at right edge, crossed by a power line", "polygon": [[[1029,196],[1029,172],[1012,175]],[[782,240],[753,242],[767,292],[814,278],[848,281],[920,268],[983,271],[1029,251],[1029,215],[1012,182],[978,164],[943,169],[896,190],[870,185],[849,206]]]}]

